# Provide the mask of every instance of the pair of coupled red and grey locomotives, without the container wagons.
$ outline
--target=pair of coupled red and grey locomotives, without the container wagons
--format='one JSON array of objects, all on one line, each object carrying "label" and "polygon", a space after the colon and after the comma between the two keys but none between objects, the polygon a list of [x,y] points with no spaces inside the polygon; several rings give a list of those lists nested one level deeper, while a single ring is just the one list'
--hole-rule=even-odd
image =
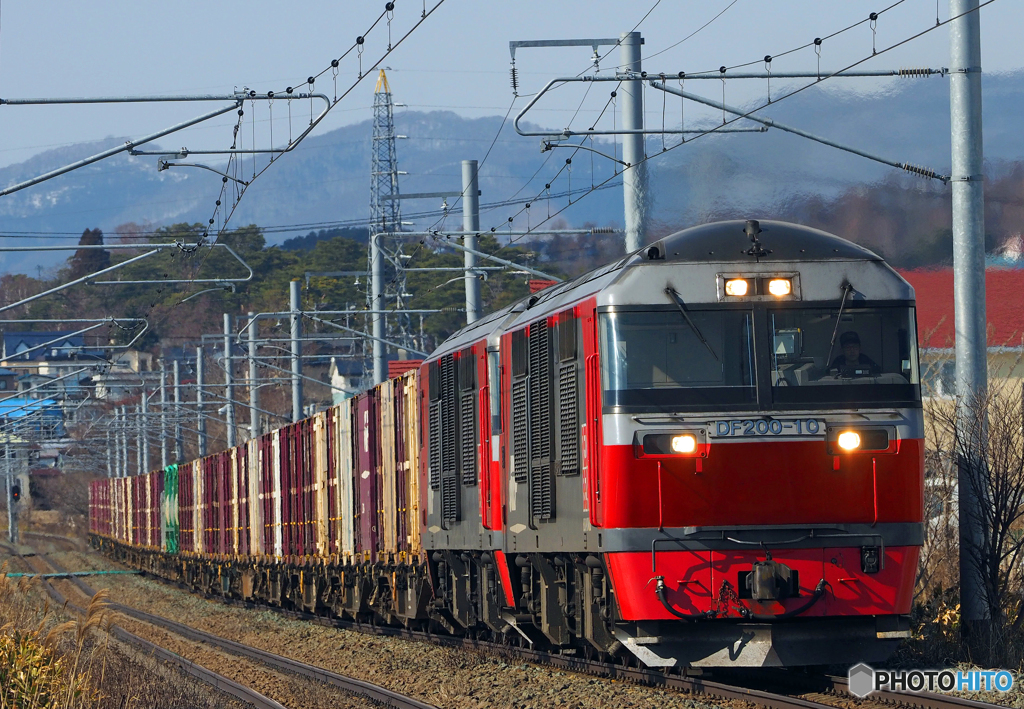
[{"label": "pair of coupled red and grey locomotives, without the container wagons", "polygon": [[649,666],[876,660],[908,634],[914,300],[876,254],[685,230],[465,328],[421,386],[453,626]]}]

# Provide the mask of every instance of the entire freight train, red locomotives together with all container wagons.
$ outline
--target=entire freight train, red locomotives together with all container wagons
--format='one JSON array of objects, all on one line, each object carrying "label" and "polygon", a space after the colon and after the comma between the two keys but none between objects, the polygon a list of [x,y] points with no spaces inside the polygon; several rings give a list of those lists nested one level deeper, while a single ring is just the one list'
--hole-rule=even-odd
[{"label": "entire freight train, red locomotives together with all container wagons", "polygon": [[870,251],[705,224],[310,419],[98,481],[92,537],[205,592],[560,653],[877,661],[923,543],[916,341]]}]

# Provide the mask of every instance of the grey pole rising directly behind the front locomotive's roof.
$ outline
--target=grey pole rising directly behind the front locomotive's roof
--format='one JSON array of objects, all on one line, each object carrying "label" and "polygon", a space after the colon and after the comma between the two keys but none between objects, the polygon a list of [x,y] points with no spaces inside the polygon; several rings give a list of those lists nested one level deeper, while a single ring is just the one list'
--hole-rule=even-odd
[{"label": "grey pole rising directly behind the front locomotive's roof", "polygon": [[[621,36],[620,72],[640,72],[640,45],[643,38],[639,32]],[[623,98],[623,128],[643,130],[643,82],[624,81],[618,89]],[[623,196],[626,206],[626,252],[632,253],[644,242],[647,226],[647,163],[644,159],[644,136],[628,134],[623,136],[623,162],[629,167],[623,170]]]}]

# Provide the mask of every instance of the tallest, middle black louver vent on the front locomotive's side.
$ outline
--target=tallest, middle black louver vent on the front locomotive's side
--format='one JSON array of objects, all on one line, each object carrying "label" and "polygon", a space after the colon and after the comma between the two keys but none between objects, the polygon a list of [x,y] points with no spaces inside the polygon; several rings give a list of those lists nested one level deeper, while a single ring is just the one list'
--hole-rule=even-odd
[{"label": "tallest, middle black louver vent on the front locomotive's side", "polygon": [[548,321],[529,326],[529,501],[535,518],[554,516],[551,439],[551,333]]}]

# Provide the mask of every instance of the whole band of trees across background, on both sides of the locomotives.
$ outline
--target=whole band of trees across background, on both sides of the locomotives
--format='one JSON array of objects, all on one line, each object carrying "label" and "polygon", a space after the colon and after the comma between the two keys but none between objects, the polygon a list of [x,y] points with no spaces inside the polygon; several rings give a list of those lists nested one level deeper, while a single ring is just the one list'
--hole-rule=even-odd
[{"label": "whole band of trees across background, on both sides of the locomotives", "polygon": [[[1006,166],[998,173],[989,171],[985,185],[986,246],[999,247],[1019,237],[1024,228],[1024,163]],[[872,249],[896,267],[918,268],[951,263],[949,190],[940,184],[912,177],[893,177],[870,185],[848,190],[835,199],[804,196],[784,204],[768,205],[744,211],[723,209],[708,214],[706,220],[723,218],[784,219],[831,232]],[[585,224],[596,226],[597,224]],[[655,223],[649,238],[659,238],[691,224]],[[564,228],[564,222],[546,224]],[[215,279],[244,276],[241,264],[221,249],[189,249],[201,225],[175,224],[156,231],[135,224],[119,227],[114,241],[125,243],[179,242],[182,248],[117,269],[104,280],[139,281],[159,279]],[[80,244],[102,245],[104,235],[98,228],[86,228]],[[290,239],[281,246],[267,246],[257,225],[243,226],[220,236],[253,268],[254,277],[233,288],[217,288],[211,283],[81,285],[51,297],[8,311],[20,318],[146,318],[150,331],[139,343],[158,350],[162,341],[194,340],[202,333],[218,332],[222,314],[242,315],[248,310],[283,310],[288,307],[288,283],[303,279],[303,308],[342,309],[364,307],[367,302],[365,278],[305,278],[316,272],[365,272],[367,268],[367,231],[349,227],[310,232]],[[106,242],[111,244],[111,241]],[[461,266],[463,255],[445,249],[437,242],[411,241],[404,245],[407,266]],[[497,252],[499,242],[484,236],[480,248]],[[81,278],[132,258],[142,249],[82,249],[49,274],[33,277],[6,274],[0,277],[0,302],[11,303],[53,286]],[[501,248],[503,257],[530,263],[546,272],[577,276],[623,253],[621,233],[555,236],[522,241]],[[391,274],[389,273],[389,278]],[[523,274],[489,272],[482,284],[485,309],[505,305],[528,292]],[[411,306],[445,311],[426,318],[424,331],[428,342],[439,343],[464,322],[458,311],[464,305],[462,281],[453,272],[417,272],[408,275]],[[112,330],[114,337],[125,337]]]}]

